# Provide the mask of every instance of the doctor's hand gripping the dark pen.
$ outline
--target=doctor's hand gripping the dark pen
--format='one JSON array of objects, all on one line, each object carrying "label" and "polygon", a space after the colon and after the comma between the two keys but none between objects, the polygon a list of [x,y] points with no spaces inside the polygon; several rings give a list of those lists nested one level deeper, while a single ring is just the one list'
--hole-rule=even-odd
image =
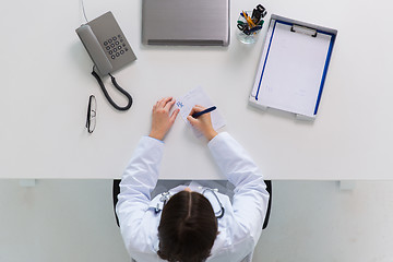
[{"label": "doctor's hand gripping the dark pen", "polygon": [[187,120],[189,120],[192,127],[198,129],[209,141],[211,141],[214,136],[218,134],[213,128],[211,114],[203,114],[199,118],[192,117],[192,114],[203,111],[206,108],[203,106],[194,106],[190,115],[187,117]]}]

